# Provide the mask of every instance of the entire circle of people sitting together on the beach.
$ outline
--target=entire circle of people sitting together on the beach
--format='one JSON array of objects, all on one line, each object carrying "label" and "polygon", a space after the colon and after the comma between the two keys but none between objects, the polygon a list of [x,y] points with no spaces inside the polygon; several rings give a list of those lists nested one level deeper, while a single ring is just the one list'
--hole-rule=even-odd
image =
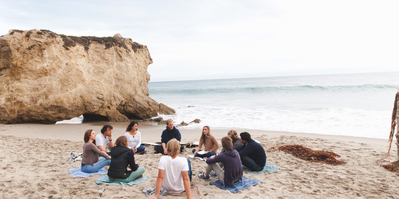
[{"label": "entire circle of people sitting together on the beach", "polygon": [[[141,178],[145,168],[134,162],[134,154],[143,154],[145,146],[141,145],[141,134],[137,131],[138,123],[132,121],[126,128],[124,136],[120,136],[115,145],[112,142],[111,125],[104,125],[101,134],[96,136],[93,130],[85,132],[82,155],[83,172],[97,172],[109,164],[108,177],[110,181],[128,183]],[[261,144],[251,139],[247,132],[237,135],[237,131],[231,130],[226,137],[221,139],[222,150],[217,154],[219,143],[211,135],[208,126],[203,127],[199,145],[192,150],[195,156],[206,159],[205,172],[198,174],[200,179],[210,180],[218,178],[224,186],[241,181],[243,167],[253,171],[263,170],[266,164],[266,153]],[[191,195],[190,181],[192,180],[191,163],[188,158],[179,157],[184,146],[180,145],[182,136],[174,127],[172,119],[166,121],[166,129],[161,135],[161,144],[154,146],[155,153],[164,154],[159,160],[158,177],[156,180],[155,195],[158,198],[161,188],[168,192],[182,193],[186,191],[187,198]],[[201,150],[202,145],[204,151]],[[106,148],[106,147],[109,148]],[[127,168],[130,168],[128,170]]]}]

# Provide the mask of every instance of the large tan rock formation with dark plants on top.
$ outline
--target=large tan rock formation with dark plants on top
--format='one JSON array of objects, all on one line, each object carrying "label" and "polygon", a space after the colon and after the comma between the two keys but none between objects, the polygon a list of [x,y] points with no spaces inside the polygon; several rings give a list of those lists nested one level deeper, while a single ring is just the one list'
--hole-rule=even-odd
[{"label": "large tan rock formation with dark plants on top", "polygon": [[[0,37],[0,123],[172,114],[148,97],[146,46],[114,37],[10,30]],[[126,117],[127,116],[127,117]]]}]

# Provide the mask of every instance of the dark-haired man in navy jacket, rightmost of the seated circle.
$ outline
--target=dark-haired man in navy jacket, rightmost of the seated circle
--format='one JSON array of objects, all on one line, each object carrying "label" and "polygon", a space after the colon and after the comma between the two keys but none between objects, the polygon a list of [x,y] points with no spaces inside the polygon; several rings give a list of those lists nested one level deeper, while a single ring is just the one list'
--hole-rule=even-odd
[{"label": "dark-haired man in navy jacket, rightmost of the seated circle", "polygon": [[251,139],[247,132],[240,133],[243,146],[237,148],[241,162],[244,166],[253,171],[261,171],[266,164],[266,153],[262,145]]}]

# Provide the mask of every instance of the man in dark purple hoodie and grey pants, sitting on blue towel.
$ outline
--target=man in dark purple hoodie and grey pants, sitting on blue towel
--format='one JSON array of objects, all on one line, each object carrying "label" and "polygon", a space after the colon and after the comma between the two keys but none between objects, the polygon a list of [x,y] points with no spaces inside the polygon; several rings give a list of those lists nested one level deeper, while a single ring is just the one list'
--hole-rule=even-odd
[{"label": "man in dark purple hoodie and grey pants, sitting on blue towel", "polygon": [[[232,146],[233,142],[231,138],[223,137],[222,147],[225,149],[225,152],[208,158],[206,160],[208,166],[205,172],[198,174],[198,178],[210,180],[211,177],[209,176],[209,173],[214,170],[219,181],[223,183],[224,186],[240,181],[243,177],[243,168],[241,166],[240,156],[235,149],[231,148]],[[223,162],[224,170],[220,168],[219,164],[217,164],[218,162]]]}]

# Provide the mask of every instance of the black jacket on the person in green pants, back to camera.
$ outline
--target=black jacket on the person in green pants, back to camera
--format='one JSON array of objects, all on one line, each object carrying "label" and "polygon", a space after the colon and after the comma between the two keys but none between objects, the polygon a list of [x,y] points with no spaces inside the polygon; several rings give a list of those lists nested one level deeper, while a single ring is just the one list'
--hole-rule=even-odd
[{"label": "black jacket on the person in green pants, back to camera", "polygon": [[[131,170],[127,170],[130,165]],[[136,171],[138,164],[134,162],[132,150],[126,146],[114,146],[111,150],[111,164],[109,164],[108,176],[111,178],[126,179]]]}]

